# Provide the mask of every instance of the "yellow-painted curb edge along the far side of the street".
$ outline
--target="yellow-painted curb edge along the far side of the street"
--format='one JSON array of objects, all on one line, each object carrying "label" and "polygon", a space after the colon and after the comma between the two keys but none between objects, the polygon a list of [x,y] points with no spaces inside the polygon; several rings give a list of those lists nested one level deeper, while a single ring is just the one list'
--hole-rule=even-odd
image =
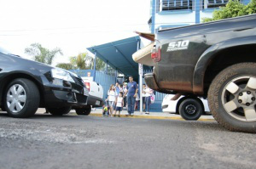
[{"label": "yellow-painted curb edge along the far side of the street", "polygon": [[[108,118],[108,116],[102,116],[101,113],[91,113],[90,116],[98,116]],[[114,117],[119,118],[119,117]],[[159,120],[176,120],[176,121],[185,121],[182,117],[178,116],[156,116],[156,115],[120,115],[120,118],[133,118],[133,119],[159,119]],[[197,121],[215,121],[214,119],[198,119]]]}]

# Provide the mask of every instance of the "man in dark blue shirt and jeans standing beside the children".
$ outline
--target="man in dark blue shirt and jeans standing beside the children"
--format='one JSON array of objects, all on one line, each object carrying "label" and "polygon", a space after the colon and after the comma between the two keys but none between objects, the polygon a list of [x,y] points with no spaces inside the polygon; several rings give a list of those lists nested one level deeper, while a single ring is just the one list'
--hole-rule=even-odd
[{"label": "man in dark blue shirt and jeans standing beside the children", "polygon": [[127,84],[127,104],[128,104],[128,114],[134,114],[134,104],[137,97],[137,82],[133,81],[133,76],[129,76],[129,82]]}]

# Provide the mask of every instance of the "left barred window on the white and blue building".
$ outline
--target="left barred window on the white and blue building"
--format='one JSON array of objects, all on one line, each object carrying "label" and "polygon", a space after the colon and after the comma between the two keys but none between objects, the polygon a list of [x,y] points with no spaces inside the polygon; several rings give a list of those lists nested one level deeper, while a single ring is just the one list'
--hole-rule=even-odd
[{"label": "left barred window on the white and blue building", "polygon": [[160,0],[159,1],[160,12],[192,9],[192,0]]}]

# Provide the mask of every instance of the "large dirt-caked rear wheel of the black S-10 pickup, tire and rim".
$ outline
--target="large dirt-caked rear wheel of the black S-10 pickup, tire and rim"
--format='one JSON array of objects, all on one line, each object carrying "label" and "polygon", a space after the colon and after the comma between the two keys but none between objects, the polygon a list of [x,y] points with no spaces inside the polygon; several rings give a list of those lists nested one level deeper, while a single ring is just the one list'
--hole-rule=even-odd
[{"label": "large dirt-caked rear wheel of the black S-10 pickup, tire and rim", "polygon": [[218,123],[230,131],[256,132],[256,63],[231,65],[214,78],[208,103]]}]

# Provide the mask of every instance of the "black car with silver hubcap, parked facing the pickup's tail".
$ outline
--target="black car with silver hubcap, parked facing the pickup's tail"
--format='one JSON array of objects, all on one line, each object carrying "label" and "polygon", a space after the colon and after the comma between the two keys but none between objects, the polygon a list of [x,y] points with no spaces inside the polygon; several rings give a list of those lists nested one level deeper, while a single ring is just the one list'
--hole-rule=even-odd
[{"label": "black car with silver hubcap, parked facing the pickup's tail", "polygon": [[67,70],[44,65],[0,48],[0,107],[13,117],[47,108],[52,115],[83,107],[89,92],[83,80]]}]

